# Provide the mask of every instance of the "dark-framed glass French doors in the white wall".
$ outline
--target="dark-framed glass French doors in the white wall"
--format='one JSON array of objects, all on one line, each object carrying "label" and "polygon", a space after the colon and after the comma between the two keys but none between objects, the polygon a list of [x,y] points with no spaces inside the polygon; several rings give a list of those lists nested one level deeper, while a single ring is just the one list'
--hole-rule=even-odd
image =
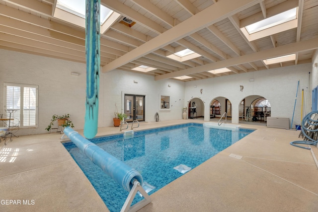
[{"label": "dark-framed glass French doors in the white wall", "polygon": [[125,94],[126,122],[145,121],[145,96]]}]

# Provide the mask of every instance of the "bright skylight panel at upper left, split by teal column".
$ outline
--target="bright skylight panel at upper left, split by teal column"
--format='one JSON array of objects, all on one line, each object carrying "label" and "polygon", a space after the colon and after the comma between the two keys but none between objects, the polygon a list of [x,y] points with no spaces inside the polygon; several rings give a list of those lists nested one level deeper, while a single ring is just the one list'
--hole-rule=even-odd
[{"label": "bright skylight panel at upper left, split by teal column", "polygon": [[[70,14],[85,19],[85,0],[57,0],[56,7]],[[76,21],[76,18],[72,18],[70,17],[70,15],[63,15],[63,12],[57,11],[57,8],[54,13],[55,17],[77,24],[79,26],[83,25],[82,21],[79,21],[79,23],[78,21]],[[100,5],[100,25],[104,24],[113,12],[113,10]]]}]

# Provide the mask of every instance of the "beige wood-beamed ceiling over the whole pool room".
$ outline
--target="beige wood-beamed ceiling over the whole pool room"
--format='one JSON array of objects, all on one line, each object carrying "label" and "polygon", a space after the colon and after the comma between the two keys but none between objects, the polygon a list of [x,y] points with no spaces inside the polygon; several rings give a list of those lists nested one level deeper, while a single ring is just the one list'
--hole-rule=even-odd
[{"label": "beige wood-beamed ceiling over the whole pool room", "polygon": [[[317,0],[101,0],[119,13],[101,34],[101,71],[184,81],[311,63],[318,49]],[[297,28],[249,41],[240,28],[298,6]],[[56,0],[0,0],[0,48],[85,63],[85,29],[55,18]],[[123,18],[133,21],[127,24]],[[200,57],[167,58],[190,49]],[[263,59],[296,53],[266,65]],[[228,68],[229,72],[210,70]]]}]

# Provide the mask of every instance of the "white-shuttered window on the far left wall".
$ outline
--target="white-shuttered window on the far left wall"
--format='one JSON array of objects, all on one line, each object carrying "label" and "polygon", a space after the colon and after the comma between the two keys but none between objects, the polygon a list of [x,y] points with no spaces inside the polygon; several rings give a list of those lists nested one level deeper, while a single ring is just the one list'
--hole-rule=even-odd
[{"label": "white-shuttered window on the far left wall", "polygon": [[38,86],[4,83],[4,114],[10,126],[37,127]]}]

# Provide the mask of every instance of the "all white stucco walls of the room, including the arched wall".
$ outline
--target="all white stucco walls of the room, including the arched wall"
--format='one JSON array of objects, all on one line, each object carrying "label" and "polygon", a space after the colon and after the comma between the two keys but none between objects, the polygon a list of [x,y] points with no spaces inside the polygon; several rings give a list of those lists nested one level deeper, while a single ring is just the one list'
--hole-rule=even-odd
[{"label": "all white stucco walls of the room, including the arched wall", "polygon": [[[315,53],[313,63],[318,63]],[[38,128],[20,129],[19,135],[47,133],[46,126],[53,114],[70,113],[75,129],[84,126],[85,64],[0,50],[0,109],[3,113],[3,82],[39,85],[39,123]],[[273,117],[292,119],[297,82],[300,80],[294,124],[300,123],[301,91],[308,84],[308,73],[311,71],[308,89],[307,112],[311,110],[311,91],[318,85],[318,71],[313,64],[303,64],[268,71],[255,71],[216,77],[204,80],[181,82],[173,79],[155,81],[151,75],[130,71],[114,70],[100,74],[99,119],[98,126],[112,126],[116,111],[123,109],[124,94],[146,96],[145,119],[155,121],[159,113],[160,121],[182,119],[182,108],[188,107],[192,99],[202,100],[200,116],[209,120],[210,103],[216,98],[227,98],[232,103],[232,122],[238,123],[239,103],[245,97],[260,95],[272,105]],[[71,75],[79,72],[79,76]],[[253,78],[254,82],[249,79]],[[135,83],[134,82],[138,82]],[[169,86],[168,86],[169,85]],[[195,87],[196,85],[196,87]],[[242,92],[239,85],[243,85]],[[203,89],[202,94],[200,89]],[[170,109],[160,109],[160,96],[170,96]],[[222,102],[221,102],[222,103]],[[223,107],[224,108],[224,107]],[[223,112],[222,112],[223,113]]]}]

